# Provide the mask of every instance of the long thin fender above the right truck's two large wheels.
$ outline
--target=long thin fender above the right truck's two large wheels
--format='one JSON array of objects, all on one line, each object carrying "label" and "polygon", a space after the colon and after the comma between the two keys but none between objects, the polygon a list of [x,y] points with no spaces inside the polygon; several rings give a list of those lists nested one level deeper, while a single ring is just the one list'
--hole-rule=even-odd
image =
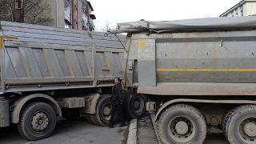
[{"label": "long thin fender above the right truck's two large wheels", "polygon": [[250,100],[205,100],[205,99],[174,99],[168,102],[165,102],[160,109],[158,110],[157,114],[155,115],[154,121],[157,121],[159,116],[162,114],[167,107],[174,105],[175,103],[181,102],[193,102],[193,103],[223,103],[223,104],[256,104],[256,101]]}]

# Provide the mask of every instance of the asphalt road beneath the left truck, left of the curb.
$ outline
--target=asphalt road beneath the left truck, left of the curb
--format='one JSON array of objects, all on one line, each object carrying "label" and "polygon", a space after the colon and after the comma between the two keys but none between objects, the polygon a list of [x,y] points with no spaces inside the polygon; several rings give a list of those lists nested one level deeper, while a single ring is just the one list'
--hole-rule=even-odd
[{"label": "asphalt road beneath the left truck, left of the curb", "polygon": [[128,137],[128,126],[122,128],[94,126],[84,121],[69,121],[62,119],[57,122],[54,134],[50,138],[35,142],[26,141],[18,134],[16,126],[0,131],[2,144],[125,144]]}]

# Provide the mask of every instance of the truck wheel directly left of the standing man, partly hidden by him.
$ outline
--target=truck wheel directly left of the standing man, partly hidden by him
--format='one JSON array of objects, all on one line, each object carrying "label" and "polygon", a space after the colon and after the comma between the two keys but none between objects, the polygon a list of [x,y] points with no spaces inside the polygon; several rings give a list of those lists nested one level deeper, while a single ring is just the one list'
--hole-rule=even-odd
[{"label": "truck wheel directly left of the standing man, partly hidden by him", "polygon": [[96,106],[96,114],[89,114],[88,122],[98,126],[107,126],[111,116],[111,95],[102,95]]}]

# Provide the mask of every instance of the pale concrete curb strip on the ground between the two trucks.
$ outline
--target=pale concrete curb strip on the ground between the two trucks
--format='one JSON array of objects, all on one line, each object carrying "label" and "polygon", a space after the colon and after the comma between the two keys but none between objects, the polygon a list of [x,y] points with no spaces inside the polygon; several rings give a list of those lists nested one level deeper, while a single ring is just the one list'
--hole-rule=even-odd
[{"label": "pale concrete curb strip on the ground between the two trucks", "polygon": [[130,121],[127,144],[137,144],[137,118]]}]

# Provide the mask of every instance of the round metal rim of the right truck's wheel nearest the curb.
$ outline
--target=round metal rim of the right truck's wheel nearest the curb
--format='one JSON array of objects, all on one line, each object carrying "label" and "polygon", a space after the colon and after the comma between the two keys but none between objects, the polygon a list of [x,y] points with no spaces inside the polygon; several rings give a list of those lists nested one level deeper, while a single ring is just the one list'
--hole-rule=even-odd
[{"label": "round metal rim of the right truck's wheel nearest the curb", "polygon": [[168,133],[175,142],[190,142],[195,135],[195,124],[186,116],[178,116],[168,123]]}]

